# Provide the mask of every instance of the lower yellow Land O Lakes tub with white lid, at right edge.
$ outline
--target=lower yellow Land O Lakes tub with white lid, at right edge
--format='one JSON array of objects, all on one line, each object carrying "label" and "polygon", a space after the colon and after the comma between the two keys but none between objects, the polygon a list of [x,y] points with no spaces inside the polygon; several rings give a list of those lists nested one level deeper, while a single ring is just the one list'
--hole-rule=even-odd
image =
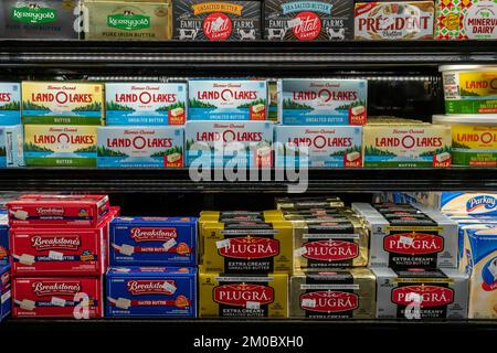
[{"label": "lower yellow Land O Lakes tub with white lid, at right edge", "polygon": [[452,165],[497,167],[497,114],[433,116],[452,128]]}]

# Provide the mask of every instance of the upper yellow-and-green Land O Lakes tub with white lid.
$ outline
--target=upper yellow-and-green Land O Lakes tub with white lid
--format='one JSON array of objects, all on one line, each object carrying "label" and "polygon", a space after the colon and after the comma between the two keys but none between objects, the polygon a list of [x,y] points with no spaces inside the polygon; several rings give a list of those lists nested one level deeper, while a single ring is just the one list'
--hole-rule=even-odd
[{"label": "upper yellow-and-green Land O Lakes tub with white lid", "polygon": [[496,114],[497,66],[441,66],[446,114]]}]

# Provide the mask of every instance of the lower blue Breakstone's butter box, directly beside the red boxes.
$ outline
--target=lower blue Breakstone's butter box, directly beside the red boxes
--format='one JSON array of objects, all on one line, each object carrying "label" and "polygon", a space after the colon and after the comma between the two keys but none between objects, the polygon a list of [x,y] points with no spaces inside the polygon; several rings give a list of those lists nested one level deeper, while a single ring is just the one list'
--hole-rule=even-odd
[{"label": "lower blue Breakstone's butter box, directly beside the red boxes", "polygon": [[108,318],[195,318],[197,269],[113,267],[106,276]]}]

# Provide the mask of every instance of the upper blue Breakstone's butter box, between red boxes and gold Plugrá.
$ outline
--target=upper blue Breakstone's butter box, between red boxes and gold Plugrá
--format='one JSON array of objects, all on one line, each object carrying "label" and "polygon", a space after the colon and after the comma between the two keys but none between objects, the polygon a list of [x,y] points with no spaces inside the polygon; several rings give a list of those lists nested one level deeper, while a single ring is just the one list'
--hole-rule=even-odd
[{"label": "upper blue Breakstone's butter box, between red boxes and gold Plugr\u00e1", "polygon": [[116,217],[109,229],[112,266],[197,265],[197,218]]}]

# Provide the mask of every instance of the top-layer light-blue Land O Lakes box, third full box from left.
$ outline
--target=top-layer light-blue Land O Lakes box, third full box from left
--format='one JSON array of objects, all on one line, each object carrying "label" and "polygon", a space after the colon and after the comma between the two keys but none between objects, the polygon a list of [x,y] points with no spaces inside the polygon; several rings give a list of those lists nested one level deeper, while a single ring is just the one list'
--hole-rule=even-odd
[{"label": "top-layer light-blue Land O Lakes box, third full box from left", "polygon": [[188,120],[267,120],[267,83],[190,79]]}]

